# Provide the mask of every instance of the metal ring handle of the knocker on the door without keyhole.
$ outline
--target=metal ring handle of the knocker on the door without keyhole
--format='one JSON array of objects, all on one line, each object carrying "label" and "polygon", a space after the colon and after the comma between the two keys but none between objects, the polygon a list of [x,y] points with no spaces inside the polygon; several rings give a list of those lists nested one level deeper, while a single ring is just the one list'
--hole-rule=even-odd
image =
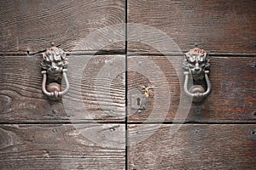
[{"label": "metal ring handle of the knocker on the door without keyhole", "polygon": [[47,75],[46,75],[46,71],[42,71],[42,74],[43,74],[43,82],[42,82],[42,91],[43,93],[48,96],[49,98],[52,98],[54,97],[55,99],[58,99],[60,98],[61,96],[67,94],[68,90],[69,90],[69,82],[67,80],[67,69],[63,69],[62,71],[62,78],[64,79],[65,83],[66,83],[66,88],[61,91],[61,92],[58,92],[58,91],[55,91],[55,92],[48,92],[45,88],[46,86],[46,81],[47,81]]}]

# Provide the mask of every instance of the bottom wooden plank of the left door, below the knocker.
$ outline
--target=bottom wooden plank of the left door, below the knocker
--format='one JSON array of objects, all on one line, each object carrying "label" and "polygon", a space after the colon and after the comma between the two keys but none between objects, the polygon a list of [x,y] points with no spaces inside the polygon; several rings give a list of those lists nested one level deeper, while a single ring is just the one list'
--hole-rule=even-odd
[{"label": "bottom wooden plank of the left door, below the knocker", "polygon": [[120,124],[0,125],[1,169],[125,169]]}]

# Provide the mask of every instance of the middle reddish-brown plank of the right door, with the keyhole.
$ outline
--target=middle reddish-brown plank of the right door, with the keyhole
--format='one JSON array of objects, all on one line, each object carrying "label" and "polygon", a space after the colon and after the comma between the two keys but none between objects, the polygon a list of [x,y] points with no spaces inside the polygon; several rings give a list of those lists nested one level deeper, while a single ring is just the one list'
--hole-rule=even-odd
[{"label": "middle reddish-brown plank of the right door, with the keyhole", "polygon": [[[212,57],[209,75],[212,93],[203,102],[191,105],[183,94],[183,56],[130,56],[129,121],[256,122],[255,59]],[[143,94],[142,85],[154,88],[146,99],[147,109],[138,112],[131,109],[131,95]]]}]

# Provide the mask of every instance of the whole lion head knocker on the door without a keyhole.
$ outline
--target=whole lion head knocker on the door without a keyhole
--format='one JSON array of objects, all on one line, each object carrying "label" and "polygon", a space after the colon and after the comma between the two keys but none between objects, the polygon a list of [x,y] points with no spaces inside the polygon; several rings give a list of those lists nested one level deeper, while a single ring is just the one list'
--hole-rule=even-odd
[{"label": "whole lion head knocker on the door without a keyhole", "polygon": [[[47,48],[41,60],[43,74],[42,90],[49,99],[61,99],[67,94],[69,83],[67,80],[67,56],[61,48],[56,48],[54,44]],[[64,79],[66,88],[61,90],[61,80]]]}]

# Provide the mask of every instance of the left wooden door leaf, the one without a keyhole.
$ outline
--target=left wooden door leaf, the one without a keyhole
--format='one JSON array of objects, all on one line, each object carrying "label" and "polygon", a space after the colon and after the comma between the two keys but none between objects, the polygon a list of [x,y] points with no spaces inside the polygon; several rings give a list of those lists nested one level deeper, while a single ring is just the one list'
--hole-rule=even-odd
[{"label": "left wooden door leaf, the one without a keyhole", "polygon": [[[104,40],[101,28],[124,24],[125,2],[2,1],[0,11],[0,169],[125,169],[125,80],[120,75],[111,86],[94,86],[105,62],[125,60],[125,30],[115,30],[122,42],[83,44],[93,32]],[[41,90],[41,54],[50,42],[69,58],[71,88],[61,101]],[[118,110],[102,110],[96,94]],[[81,98],[86,112],[68,105]]]}]

